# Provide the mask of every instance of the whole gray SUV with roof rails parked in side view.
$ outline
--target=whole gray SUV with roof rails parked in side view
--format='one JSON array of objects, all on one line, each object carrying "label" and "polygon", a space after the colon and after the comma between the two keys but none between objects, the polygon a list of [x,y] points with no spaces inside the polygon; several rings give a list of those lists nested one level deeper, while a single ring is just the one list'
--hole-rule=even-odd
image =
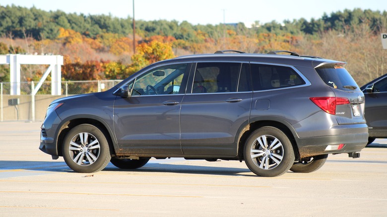
[{"label": "whole gray SUV with roof rails parked in side view", "polygon": [[328,154],[358,158],[364,94],[346,63],[279,52],[180,56],[108,91],[55,100],[39,148],[87,173],[177,157],[245,161],[278,176],[315,171]]}]

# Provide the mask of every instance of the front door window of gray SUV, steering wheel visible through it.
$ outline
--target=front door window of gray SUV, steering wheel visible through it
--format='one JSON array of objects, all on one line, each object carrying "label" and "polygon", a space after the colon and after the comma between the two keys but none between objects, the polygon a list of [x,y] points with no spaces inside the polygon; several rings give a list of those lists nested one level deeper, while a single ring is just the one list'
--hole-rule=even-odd
[{"label": "front door window of gray SUV, steering wheel visible through it", "polygon": [[157,67],[134,80],[132,96],[182,94],[187,63]]}]

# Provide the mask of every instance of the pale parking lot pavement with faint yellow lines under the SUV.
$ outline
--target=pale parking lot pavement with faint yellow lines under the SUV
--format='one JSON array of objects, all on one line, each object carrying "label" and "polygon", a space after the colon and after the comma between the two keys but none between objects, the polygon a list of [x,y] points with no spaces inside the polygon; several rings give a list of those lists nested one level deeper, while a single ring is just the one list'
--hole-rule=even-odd
[{"label": "pale parking lot pavement with faint yellow lines under the SUV", "polygon": [[41,122],[0,122],[0,216],[387,216],[387,140],[359,159],[264,178],[244,162],[152,159],[75,173],[41,152]]}]

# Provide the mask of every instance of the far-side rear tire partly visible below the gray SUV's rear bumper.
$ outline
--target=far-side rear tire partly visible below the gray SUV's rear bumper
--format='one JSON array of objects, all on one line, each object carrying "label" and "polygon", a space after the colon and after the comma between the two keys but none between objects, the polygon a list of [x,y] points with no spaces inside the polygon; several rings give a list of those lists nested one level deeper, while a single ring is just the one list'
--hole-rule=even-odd
[{"label": "far-side rear tire partly visible below the gray SUV's rear bumper", "polygon": [[301,173],[314,172],[323,166],[326,162],[326,158],[328,158],[328,155],[319,155],[307,159],[301,159],[300,161],[293,163],[290,170]]}]

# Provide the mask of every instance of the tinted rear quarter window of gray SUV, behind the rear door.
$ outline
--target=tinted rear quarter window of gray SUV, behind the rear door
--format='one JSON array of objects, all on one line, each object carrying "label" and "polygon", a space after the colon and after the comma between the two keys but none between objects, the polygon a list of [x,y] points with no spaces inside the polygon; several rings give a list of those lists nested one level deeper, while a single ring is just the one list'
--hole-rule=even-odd
[{"label": "tinted rear quarter window of gray SUV, behind the rear door", "polygon": [[293,68],[280,65],[251,64],[255,91],[292,87],[305,84]]}]

